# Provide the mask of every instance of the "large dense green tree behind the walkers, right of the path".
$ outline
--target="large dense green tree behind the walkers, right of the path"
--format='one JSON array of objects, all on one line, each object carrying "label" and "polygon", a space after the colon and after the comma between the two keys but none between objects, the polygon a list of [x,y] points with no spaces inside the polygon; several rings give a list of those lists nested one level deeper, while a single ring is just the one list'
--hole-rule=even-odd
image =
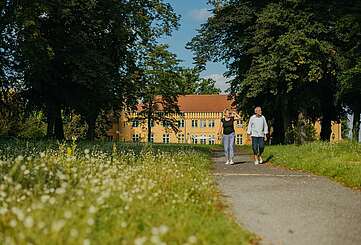
[{"label": "large dense green tree behind the walkers, right of the path", "polygon": [[341,1],[210,2],[214,15],[188,45],[199,66],[209,60],[227,64],[239,108],[250,114],[255,105],[263,106],[273,142],[285,142],[299,113],[321,118],[321,138],[329,140],[331,120],[341,112],[333,41]]}]

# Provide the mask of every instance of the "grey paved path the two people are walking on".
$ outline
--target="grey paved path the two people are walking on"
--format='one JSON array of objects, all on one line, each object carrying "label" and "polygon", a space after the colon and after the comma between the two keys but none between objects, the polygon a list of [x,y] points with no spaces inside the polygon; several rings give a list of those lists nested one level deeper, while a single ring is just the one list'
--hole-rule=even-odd
[{"label": "grey paved path the two people are walking on", "polygon": [[325,177],[255,166],[246,153],[236,165],[214,154],[214,174],[239,223],[261,244],[361,245],[361,192]]}]

